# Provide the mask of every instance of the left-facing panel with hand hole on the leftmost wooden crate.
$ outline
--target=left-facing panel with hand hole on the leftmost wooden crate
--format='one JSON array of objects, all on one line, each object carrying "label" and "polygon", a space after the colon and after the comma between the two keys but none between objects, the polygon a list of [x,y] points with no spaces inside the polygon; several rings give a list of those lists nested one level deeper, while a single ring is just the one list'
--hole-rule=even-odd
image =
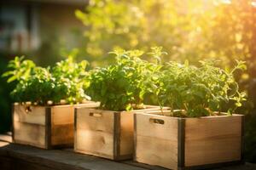
[{"label": "left-facing panel with hand hole on the leftmost wooden crate", "polygon": [[26,111],[24,105],[14,105],[13,140],[18,144],[28,144],[45,148],[45,108],[31,106]]}]

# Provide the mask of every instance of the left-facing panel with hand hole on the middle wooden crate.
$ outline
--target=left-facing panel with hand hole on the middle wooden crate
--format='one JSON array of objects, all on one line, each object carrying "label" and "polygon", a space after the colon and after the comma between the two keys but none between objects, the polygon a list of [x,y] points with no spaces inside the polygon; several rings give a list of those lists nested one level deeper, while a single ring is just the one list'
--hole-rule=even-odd
[{"label": "left-facing panel with hand hole on the middle wooden crate", "polygon": [[113,159],[114,112],[77,108],[75,151]]}]

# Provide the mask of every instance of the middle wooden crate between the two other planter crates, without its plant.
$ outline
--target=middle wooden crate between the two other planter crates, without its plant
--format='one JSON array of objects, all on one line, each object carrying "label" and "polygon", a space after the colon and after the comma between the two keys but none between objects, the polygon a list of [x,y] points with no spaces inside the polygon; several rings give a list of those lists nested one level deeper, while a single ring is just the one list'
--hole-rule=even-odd
[{"label": "middle wooden crate between the two other planter crates, without its plant", "polygon": [[102,111],[77,108],[75,110],[74,150],[112,160],[133,156],[133,114],[159,110],[149,106],[137,111]]}]

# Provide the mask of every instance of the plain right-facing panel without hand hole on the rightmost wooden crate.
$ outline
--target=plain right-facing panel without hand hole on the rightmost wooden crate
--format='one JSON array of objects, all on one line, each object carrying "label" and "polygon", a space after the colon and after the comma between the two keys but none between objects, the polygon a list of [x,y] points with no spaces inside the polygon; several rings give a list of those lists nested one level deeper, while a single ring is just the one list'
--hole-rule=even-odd
[{"label": "plain right-facing panel without hand hole on the rightmost wooden crate", "polygon": [[241,117],[186,119],[185,167],[241,160]]}]

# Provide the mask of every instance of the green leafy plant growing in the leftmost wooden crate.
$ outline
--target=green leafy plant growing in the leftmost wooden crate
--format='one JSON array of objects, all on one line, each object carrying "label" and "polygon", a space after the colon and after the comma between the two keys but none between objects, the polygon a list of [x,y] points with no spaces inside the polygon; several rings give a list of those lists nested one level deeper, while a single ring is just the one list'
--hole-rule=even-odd
[{"label": "green leafy plant growing in the leftmost wooden crate", "polygon": [[61,100],[73,104],[88,99],[84,94],[86,61],[75,63],[72,57],[56,63],[51,69],[36,66],[32,60],[15,57],[3,77],[16,81],[11,96],[17,102],[30,101],[37,105],[58,105]]}]

